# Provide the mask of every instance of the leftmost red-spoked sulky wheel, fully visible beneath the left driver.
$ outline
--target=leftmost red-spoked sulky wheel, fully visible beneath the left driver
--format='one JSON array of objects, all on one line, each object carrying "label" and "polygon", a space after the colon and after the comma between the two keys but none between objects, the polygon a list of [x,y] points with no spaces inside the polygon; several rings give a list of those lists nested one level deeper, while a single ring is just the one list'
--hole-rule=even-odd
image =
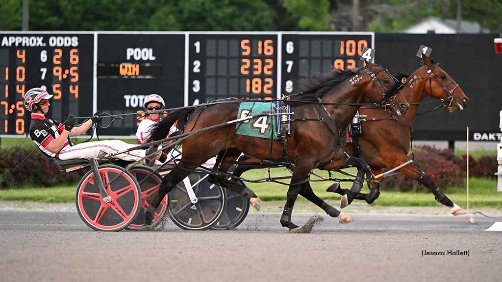
[{"label": "leftmost red-spoked sulky wheel, fully visible beneath the left driver", "polygon": [[103,201],[94,174],[90,171],[77,187],[75,203],[78,214],[94,230],[122,230],[138,216],[141,207],[140,185],[131,173],[121,167],[106,165],[100,166],[98,170],[111,201]]}]

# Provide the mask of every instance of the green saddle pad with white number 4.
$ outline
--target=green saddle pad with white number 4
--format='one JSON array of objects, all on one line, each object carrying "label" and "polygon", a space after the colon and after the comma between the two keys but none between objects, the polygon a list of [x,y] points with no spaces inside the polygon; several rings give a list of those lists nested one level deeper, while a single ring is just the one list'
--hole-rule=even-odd
[{"label": "green saddle pad with white number 4", "polygon": [[237,122],[235,133],[261,138],[277,138],[277,115],[273,102],[240,103],[237,118],[256,116]]}]

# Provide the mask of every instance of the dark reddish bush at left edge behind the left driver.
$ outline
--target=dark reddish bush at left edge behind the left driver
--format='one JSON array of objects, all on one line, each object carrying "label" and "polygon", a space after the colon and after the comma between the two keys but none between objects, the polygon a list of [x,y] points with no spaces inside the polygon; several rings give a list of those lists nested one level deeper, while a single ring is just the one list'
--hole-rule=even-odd
[{"label": "dark reddish bush at left edge behind the left driver", "polygon": [[[49,187],[75,183],[86,173],[85,170],[62,172],[56,164],[49,161],[38,150],[26,158],[32,151],[32,149],[19,146],[9,149],[0,148],[0,178],[4,180],[12,171],[11,175],[2,182],[0,188],[26,184],[31,184],[34,187]],[[18,165],[19,167],[16,168]],[[16,169],[14,170],[14,168]]]}]

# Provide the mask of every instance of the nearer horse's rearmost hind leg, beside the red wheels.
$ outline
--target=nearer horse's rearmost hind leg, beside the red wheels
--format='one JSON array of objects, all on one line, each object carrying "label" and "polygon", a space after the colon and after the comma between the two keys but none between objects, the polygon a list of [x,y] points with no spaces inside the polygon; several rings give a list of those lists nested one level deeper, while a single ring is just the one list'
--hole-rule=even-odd
[{"label": "nearer horse's rearmost hind leg, beside the red wheels", "polygon": [[143,212],[146,218],[146,222],[143,225],[144,227],[148,228],[148,226],[152,225],[152,222],[155,219],[155,211],[159,207],[164,197],[189,174],[190,171],[181,169],[179,166],[176,166],[169,172],[168,175],[164,177],[161,185],[159,186],[159,190],[157,191],[157,193],[155,193],[154,200]]}]

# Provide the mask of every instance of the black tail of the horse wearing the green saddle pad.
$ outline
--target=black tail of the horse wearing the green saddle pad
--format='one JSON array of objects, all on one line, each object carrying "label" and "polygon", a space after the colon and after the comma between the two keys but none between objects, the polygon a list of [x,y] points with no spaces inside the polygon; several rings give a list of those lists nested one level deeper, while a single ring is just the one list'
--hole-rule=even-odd
[{"label": "black tail of the horse wearing the green saddle pad", "polygon": [[186,125],[188,115],[192,111],[194,111],[194,109],[195,108],[193,107],[188,107],[169,112],[165,118],[161,119],[159,122],[152,125],[150,129],[150,138],[148,139],[148,142],[165,139],[167,134],[169,133],[169,130],[176,121],[178,121],[177,124],[178,129],[180,131],[183,131]]}]

